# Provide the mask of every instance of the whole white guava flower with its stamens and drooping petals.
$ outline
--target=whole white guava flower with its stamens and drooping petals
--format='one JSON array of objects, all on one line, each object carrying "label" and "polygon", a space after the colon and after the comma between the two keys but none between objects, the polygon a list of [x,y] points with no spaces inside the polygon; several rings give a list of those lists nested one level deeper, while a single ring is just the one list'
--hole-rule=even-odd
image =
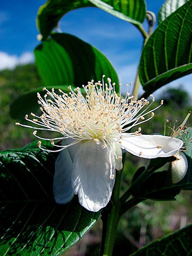
[{"label": "whole white guava flower with its stamens and drooping petals", "polygon": [[[32,113],[33,120],[28,115],[25,117],[39,126],[37,129],[61,134],[50,139],[37,136],[37,130],[33,132],[37,138],[50,140],[52,144],[62,140],[61,145],[54,144],[56,151],[61,151],[53,182],[58,204],[66,204],[78,194],[80,204],[90,211],[105,207],[111,198],[116,170],[122,169],[122,149],[136,156],[156,158],[173,156],[182,147],[183,142],[177,138],[142,135],[141,128],[127,133],[154,116],[153,111],[158,107],[148,110],[153,95],[150,95],[151,104],[144,98],[134,100],[128,90],[125,99],[121,99],[121,92],[118,96],[109,78],[108,84],[91,81],[83,86],[85,96],[80,88],[69,88],[69,95],[62,90],[59,90],[61,95],[56,95],[53,89],[50,92],[44,88],[47,92],[44,98],[37,94],[42,115]],[[41,148],[40,141],[38,146]]]}]

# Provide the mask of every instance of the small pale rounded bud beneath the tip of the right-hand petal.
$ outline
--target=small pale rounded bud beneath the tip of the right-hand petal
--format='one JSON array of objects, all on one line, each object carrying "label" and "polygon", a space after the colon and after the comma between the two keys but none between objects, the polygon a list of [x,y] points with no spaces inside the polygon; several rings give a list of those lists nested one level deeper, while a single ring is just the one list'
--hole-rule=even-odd
[{"label": "small pale rounded bud beneath the tip of the right-hand petal", "polygon": [[173,184],[184,178],[188,168],[187,157],[183,152],[178,152],[174,156],[177,157],[177,160],[171,163],[171,181]]}]

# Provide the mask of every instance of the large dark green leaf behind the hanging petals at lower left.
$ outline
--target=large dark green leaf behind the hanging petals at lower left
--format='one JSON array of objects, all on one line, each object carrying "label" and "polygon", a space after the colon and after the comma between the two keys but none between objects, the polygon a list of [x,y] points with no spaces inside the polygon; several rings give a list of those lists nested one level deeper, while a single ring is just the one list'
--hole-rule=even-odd
[{"label": "large dark green leaf behind the hanging petals at lower left", "polygon": [[[42,146],[52,150],[50,143]],[[57,153],[37,142],[0,152],[0,255],[59,255],[78,242],[99,213],[72,199],[56,204],[52,195]]]}]

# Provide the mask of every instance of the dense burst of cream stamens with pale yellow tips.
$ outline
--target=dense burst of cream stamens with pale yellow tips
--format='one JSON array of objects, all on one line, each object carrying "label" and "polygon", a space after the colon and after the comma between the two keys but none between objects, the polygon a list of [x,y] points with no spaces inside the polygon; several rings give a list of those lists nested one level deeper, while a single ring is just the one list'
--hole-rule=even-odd
[{"label": "dense burst of cream stamens with pale yellow tips", "polygon": [[[26,120],[40,127],[22,126],[61,133],[62,137],[47,139],[38,137],[36,130],[33,132],[36,137],[50,140],[52,144],[56,139],[72,138],[74,142],[70,145],[83,140],[94,140],[97,144],[102,142],[102,147],[106,147],[114,141],[121,143],[122,133],[151,119],[154,116],[153,111],[159,107],[146,112],[146,109],[154,102],[153,95],[150,95],[151,103],[144,98],[133,100],[134,96],[130,95],[128,85],[126,97],[121,99],[121,94],[117,95],[115,84],[111,84],[109,78],[108,84],[104,84],[104,81],[103,83],[98,81],[95,84],[93,82],[83,86],[85,96],[79,87],[72,90],[69,86],[69,95],[62,90],[59,90],[61,95],[57,95],[54,89],[50,92],[44,88],[43,90],[47,91],[44,98],[37,93],[42,115],[38,117],[31,113],[34,119],[28,119],[28,115],[25,116]],[[147,107],[141,111],[146,105]],[[151,116],[145,119],[145,115],[149,113]],[[16,124],[20,125],[20,123]],[[141,128],[138,128],[138,131],[132,134],[140,135],[140,131]],[[41,147],[41,142],[38,145]],[[55,146],[61,147],[58,150],[60,151],[70,145]]]}]

